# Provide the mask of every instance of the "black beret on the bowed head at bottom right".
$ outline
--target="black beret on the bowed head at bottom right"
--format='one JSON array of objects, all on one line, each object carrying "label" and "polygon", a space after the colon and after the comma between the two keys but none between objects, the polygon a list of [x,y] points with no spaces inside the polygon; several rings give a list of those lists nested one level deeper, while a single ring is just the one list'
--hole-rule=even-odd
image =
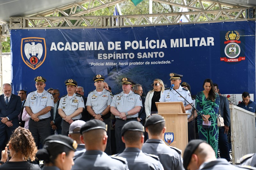
[{"label": "black beret on the bowed head at bottom right", "polygon": [[199,144],[201,144],[203,142],[206,143],[205,141],[202,141],[199,139],[189,141],[189,143],[183,153],[183,166],[186,170],[187,170],[187,167],[190,162],[192,154],[196,151],[196,148],[199,146]]}]

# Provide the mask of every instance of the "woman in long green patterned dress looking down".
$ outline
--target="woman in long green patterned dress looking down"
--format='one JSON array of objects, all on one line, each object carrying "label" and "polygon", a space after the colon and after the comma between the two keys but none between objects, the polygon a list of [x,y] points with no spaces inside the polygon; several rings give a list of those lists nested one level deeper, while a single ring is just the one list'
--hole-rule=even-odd
[{"label": "woman in long green patterned dress looking down", "polygon": [[[215,92],[211,79],[205,79],[204,90],[196,94],[196,109],[200,112],[197,117],[198,135],[199,139],[210,144],[213,150],[218,153],[218,136],[219,128],[217,126],[217,116],[219,111],[220,99]],[[203,115],[205,118],[203,118]],[[202,123],[211,122],[209,128],[203,128]]]}]

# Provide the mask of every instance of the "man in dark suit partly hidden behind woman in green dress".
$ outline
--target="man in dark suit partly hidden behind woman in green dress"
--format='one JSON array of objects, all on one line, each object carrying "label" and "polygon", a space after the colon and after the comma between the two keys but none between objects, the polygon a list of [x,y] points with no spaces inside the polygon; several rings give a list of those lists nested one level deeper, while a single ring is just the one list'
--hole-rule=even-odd
[{"label": "man in dark suit partly hidden behind woman in green dress", "polygon": [[[215,92],[220,94],[220,89],[217,84],[213,84]],[[220,158],[225,158],[230,161],[229,147],[228,147],[228,129],[230,126],[230,109],[228,98],[220,95],[220,112],[219,114],[224,119],[224,127],[219,127],[219,148]]]}]

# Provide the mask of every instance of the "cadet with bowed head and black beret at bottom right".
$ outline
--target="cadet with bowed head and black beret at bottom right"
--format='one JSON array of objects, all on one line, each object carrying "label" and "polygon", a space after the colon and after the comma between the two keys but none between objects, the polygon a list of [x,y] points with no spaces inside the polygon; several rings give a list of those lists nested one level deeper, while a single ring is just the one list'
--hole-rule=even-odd
[{"label": "cadet with bowed head and black beret at bottom right", "polygon": [[217,159],[212,147],[202,140],[191,140],[183,154],[183,166],[186,170],[242,170],[253,167],[234,166],[226,159]]}]

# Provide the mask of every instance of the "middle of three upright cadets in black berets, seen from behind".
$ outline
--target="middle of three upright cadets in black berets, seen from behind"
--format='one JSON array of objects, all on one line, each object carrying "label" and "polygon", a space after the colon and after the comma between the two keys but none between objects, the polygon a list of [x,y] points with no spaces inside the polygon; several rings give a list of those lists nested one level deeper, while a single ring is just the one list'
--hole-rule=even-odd
[{"label": "middle of three upright cadets in black berets, seen from behind", "polygon": [[144,128],[140,122],[128,122],[122,128],[122,140],[125,143],[124,152],[117,154],[127,159],[128,167],[132,170],[161,169],[163,166],[158,156],[143,153],[141,151],[144,143]]}]

